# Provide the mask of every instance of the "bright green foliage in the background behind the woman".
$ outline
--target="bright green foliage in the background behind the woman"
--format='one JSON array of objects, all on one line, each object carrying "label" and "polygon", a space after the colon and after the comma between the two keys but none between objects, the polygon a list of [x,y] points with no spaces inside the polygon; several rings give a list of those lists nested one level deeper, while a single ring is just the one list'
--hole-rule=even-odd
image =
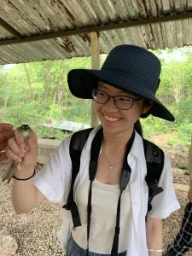
[{"label": "bright green foliage in the background behind the woman", "polygon": [[[142,119],[144,137],[163,134],[169,145],[189,145],[192,135],[192,51],[181,49],[182,61],[172,54],[178,49],[155,52],[162,63],[160,88],[157,96],[174,114],[175,122],[149,116]],[[166,54],[165,54],[166,53]],[[165,55],[168,56],[165,58]],[[101,63],[106,55],[101,55]],[[11,68],[0,67],[0,121],[15,126],[32,125],[40,137],[64,138],[66,135],[43,123],[72,120],[90,125],[90,100],[75,98],[67,86],[67,73],[73,68],[90,68],[90,57],[60,61],[30,62]],[[177,136],[173,136],[177,134]]]}]

